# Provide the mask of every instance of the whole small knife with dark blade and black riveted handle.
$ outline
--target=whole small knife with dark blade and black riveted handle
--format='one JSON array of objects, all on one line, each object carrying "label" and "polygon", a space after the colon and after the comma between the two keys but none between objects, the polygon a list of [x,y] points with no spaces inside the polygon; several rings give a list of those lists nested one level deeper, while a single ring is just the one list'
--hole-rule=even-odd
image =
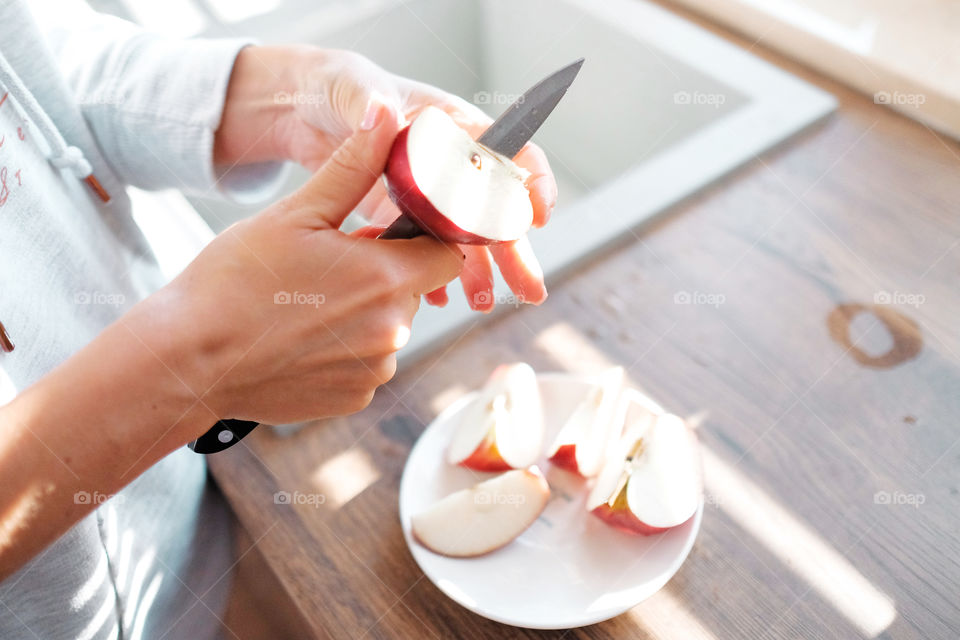
[{"label": "whole small knife with dark blade and black riveted handle", "polygon": [[[477,142],[508,158],[516,156],[560,103],[582,65],[580,58],[530,87],[487,127]],[[393,240],[423,233],[413,218],[402,213],[379,237]],[[250,420],[220,420],[187,446],[196,453],[217,453],[238,443],[258,424]]]}]

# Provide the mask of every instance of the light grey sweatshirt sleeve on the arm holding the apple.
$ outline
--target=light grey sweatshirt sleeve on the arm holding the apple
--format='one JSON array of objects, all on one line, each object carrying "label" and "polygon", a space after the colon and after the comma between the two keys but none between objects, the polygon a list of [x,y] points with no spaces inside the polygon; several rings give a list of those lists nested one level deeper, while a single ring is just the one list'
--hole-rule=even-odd
[{"label": "light grey sweatshirt sleeve on the arm holding the apple", "polygon": [[[39,5],[47,4],[41,0]],[[284,163],[218,175],[214,132],[243,39],[172,39],[78,0],[35,15],[113,170],[142,189],[177,188],[253,203],[275,193]]]}]

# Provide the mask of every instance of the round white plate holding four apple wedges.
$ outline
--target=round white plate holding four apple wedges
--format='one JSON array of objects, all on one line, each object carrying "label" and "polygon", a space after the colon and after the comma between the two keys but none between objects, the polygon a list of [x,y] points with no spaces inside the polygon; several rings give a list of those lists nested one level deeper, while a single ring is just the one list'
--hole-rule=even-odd
[{"label": "round white plate holding four apple wedges", "polygon": [[[587,389],[582,378],[539,374],[546,442]],[[653,536],[613,529],[584,508],[589,481],[545,459],[546,509],[519,538],[485,556],[447,558],[415,542],[410,516],[440,498],[496,474],[450,465],[445,452],[456,417],[474,396],[460,398],[424,430],[400,481],[400,522],[410,553],[445,594],[484,617],[518,627],[565,629],[612,618],[656,593],[690,553],[703,503],[682,526]]]}]

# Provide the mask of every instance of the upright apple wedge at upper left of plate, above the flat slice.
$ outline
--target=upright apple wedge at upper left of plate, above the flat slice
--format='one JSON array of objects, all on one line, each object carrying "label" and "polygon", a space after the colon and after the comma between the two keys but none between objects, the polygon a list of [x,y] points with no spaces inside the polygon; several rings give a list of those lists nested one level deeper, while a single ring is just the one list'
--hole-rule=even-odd
[{"label": "upright apple wedge at upper left of plate, above the flat slice", "polygon": [[540,457],[543,430],[533,368],[525,362],[503,364],[464,409],[447,461],[477,471],[523,469]]}]

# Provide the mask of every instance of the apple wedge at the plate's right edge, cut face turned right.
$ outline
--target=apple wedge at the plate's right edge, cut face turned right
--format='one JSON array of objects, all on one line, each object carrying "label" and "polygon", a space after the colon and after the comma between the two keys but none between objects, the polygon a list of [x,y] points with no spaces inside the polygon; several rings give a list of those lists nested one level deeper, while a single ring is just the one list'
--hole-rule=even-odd
[{"label": "apple wedge at the plate's right edge, cut face turned right", "polygon": [[650,535],[689,520],[702,491],[696,436],[679,417],[660,415],[628,427],[587,510],[620,530]]}]

